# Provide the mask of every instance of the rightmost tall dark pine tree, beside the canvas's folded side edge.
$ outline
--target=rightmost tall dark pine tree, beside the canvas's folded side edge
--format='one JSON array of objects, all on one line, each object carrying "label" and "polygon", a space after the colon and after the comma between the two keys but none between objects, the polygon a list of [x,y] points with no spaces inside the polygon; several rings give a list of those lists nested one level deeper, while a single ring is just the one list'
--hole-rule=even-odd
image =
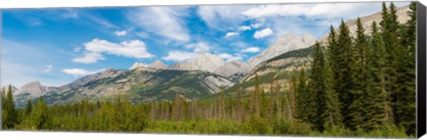
[{"label": "rightmost tall dark pine tree, beside the canvas's folded side edge", "polygon": [[[410,11],[399,48],[398,80],[395,93],[395,114],[399,126],[407,129],[408,135],[415,135],[415,40],[416,40],[416,3],[409,5]],[[392,9],[392,5],[391,5]]]}]

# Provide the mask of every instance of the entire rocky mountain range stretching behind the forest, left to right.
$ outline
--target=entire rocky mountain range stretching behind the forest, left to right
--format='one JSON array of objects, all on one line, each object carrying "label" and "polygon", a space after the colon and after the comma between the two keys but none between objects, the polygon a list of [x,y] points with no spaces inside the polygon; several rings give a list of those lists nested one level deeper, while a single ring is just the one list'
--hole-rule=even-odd
[{"label": "entire rocky mountain range stretching behind the forest, left to right", "polygon": [[[399,22],[403,23],[408,19],[407,11],[407,6],[398,9]],[[379,12],[361,17],[367,33],[370,32],[372,22],[379,22],[380,19]],[[354,32],[355,19],[345,23]],[[211,53],[200,53],[193,59],[171,66],[160,60],[149,65],[136,62],[128,69],[107,69],[60,87],[28,82],[20,89],[13,88],[13,96],[17,106],[23,107],[28,99],[36,100],[42,96],[49,105],[69,104],[82,99],[111,100],[117,94],[125,94],[133,103],[139,103],[173,100],[175,94],[193,100],[214,95],[222,88],[226,92],[233,92],[237,85],[250,90],[253,88],[254,74],[258,74],[261,86],[265,87],[271,78],[286,83],[294,68],[309,69],[311,46],[316,40],[316,37],[308,34],[281,35],[267,49],[247,62],[226,62]],[[319,40],[321,43],[326,41],[327,35]]]}]

